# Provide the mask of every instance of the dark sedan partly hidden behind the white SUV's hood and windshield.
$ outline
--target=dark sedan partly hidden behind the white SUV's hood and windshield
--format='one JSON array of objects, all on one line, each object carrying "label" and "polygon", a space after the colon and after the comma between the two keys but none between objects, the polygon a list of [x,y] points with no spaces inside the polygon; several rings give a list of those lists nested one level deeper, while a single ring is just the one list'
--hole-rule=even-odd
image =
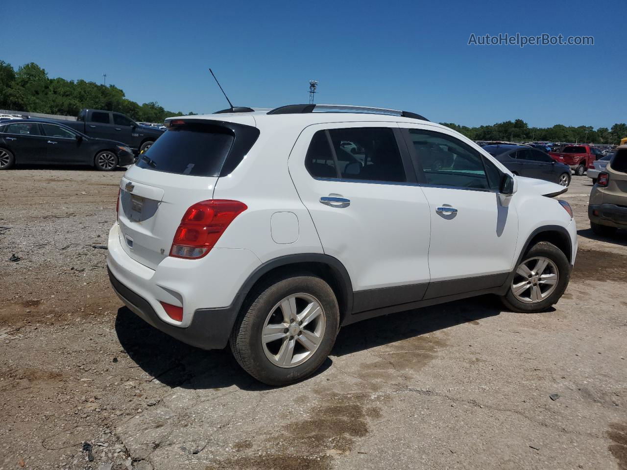
[{"label": "dark sedan partly hidden behind the white SUV's hood and windshield", "polygon": [[526,145],[485,145],[490,153],[515,175],[544,179],[567,186],[571,184],[571,168],[558,163],[546,152]]}]

